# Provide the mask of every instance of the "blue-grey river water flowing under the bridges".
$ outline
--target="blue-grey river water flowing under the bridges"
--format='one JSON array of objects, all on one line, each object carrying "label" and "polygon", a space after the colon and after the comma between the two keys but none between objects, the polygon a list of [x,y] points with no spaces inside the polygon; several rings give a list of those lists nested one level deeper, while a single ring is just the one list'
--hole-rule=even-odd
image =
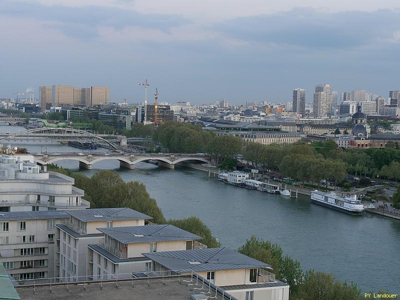
[{"label": "blue-grey river water flowing under the bridges", "polygon": [[[24,128],[0,126],[0,132]],[[13,145],[14,146],[14,145]],[[60,143],[20,143],[30,152],[74,152]],[[98,149],[95,151],[105,151]],[[281,245],[304,270],[315,268],[354,281],[363,291],[400,292],[400,221],[379,215],[352,216],[309,202],[230,186],[188,168],[168,169],[140,162],[134,170],[114,159],[79,169],[78,161],[59,165],[89,176],[115,169],[126,180],[143,182],[166,218],[200,217],[223,246],[238,248],[252,234]]]}]

